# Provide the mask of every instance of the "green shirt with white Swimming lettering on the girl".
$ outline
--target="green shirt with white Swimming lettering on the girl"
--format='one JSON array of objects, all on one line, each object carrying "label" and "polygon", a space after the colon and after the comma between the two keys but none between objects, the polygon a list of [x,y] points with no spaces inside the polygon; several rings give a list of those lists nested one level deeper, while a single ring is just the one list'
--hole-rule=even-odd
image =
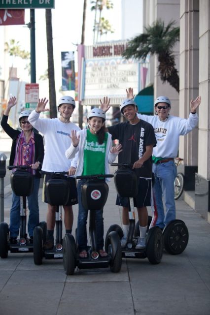
[{"label": "green shirt with white Swimming lettering on the girl", "polygon": [[105,133],[105,141],[98,143],[96,134],[87,130],[84,146],[84,167],[82,175],[105,174],[105,151],[108,134]]}]

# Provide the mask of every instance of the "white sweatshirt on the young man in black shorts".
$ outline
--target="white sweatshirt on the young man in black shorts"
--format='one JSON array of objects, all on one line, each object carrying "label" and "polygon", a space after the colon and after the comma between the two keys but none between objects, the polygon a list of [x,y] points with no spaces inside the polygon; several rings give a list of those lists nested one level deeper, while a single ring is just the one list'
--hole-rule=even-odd
[{"label": "white sweatshirt on the young man in black shorts", "polygon": [[71,130],[80,130],[73,123],[62,123],[58,118],[40,119],[34,110],[29,116],[29,122],[44,135],[45,151],[42,170],[46,172],[68,171],[70,166],[77,167],[77,156],[68,159],[65,156],[70,147]]}]

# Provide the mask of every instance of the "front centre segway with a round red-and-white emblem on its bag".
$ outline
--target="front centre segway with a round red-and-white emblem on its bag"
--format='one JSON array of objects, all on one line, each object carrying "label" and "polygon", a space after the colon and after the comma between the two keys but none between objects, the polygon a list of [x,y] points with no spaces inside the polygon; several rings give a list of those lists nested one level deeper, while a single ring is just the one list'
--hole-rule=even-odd
[{"label": "front centre segway with a round red-and-white emblem on its bag", "polygon": [[[111,231],[106,240],[106,257],[101,257],[97,249],[96,237],[96,210],[103,209],[107,196],[108,185],[103,180],[113,175],[85,175],[77,176],[76,179],[87,179],[82,186],[82,204],[89,210],[89,235],[90,244],[87,250],[87,258],[80,258],[77,249],[77,242],[71,234],[67,234],[63,240],[63,262],[64,270],[67,275],[72,275],[74,269],[106,268],[111,272],[119,272],[122,264],[122,251],[120,238],[116,231]],[[76,236],[77,239],[77,236]]]}]

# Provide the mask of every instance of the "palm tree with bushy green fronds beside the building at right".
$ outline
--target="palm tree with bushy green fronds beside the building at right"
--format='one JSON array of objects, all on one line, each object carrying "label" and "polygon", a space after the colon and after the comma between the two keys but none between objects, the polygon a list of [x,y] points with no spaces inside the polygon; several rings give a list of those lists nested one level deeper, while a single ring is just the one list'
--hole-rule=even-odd
[{"label": "palm tree with bushy green fronds beside the building at right", "polygon": [[179,40],[179,27],[173,27],[174,24],[175,21],[172,21],[165,27],[163,21],[155,21],[145,28],[144,33],[128,42],[123,56],[126,59],[133,57],[144,60],[148,54],[157,55],[161,80],[167,81],[179,93],[179,76],[173,55],[173,47]]}]

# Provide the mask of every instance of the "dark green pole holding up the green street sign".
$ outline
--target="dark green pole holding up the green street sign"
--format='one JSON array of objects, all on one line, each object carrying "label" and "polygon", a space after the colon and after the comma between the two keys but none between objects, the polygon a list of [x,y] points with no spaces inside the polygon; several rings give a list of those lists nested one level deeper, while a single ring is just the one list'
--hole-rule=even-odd
[{"label": "dark green pole holding up the green street sign", "polygon": [[35,9],[30,9],[30,34],[31,34],[31,83],[36,82],[35,73]]}]

